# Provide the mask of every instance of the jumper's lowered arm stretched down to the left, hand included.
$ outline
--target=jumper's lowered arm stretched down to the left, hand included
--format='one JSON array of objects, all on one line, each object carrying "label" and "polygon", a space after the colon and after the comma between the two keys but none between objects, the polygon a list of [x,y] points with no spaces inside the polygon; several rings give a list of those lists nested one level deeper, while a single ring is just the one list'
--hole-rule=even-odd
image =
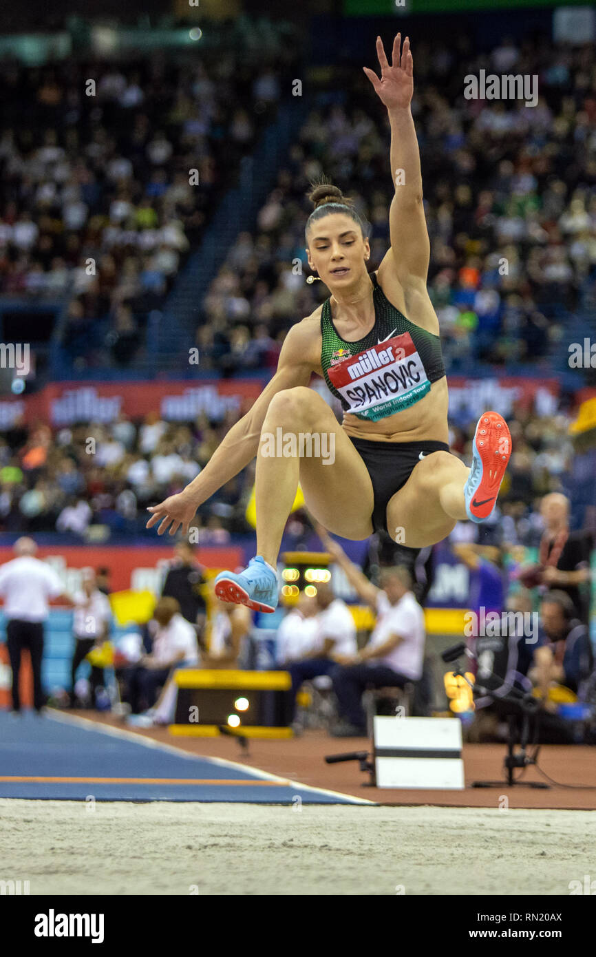
[{"label": "jumper's lowered arm stretched down to the left, hand included", "polygon": [[188,525],[199,505],[253,460],[274,395],[282,389],[308,386],[316,365],[313,347],[312,333],[304,321],[292,326],[281,348],[276,374],[254,401],[250,412],[232,426],[196,479],[192,479],[177,495],[149,507],[152,515],[146,523],[147,528],[160,522],[158,533],[163,535],[171,523],[170,535],[174,535],[181,525],[184,534],[188,534]]}]

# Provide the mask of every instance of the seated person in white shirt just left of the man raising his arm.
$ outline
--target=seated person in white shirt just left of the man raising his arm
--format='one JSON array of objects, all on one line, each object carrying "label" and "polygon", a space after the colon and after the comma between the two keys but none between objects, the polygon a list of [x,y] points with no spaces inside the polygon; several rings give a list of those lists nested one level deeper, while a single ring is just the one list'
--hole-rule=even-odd
[{"label": "seated person in white shirt just left of the man raising his arm", "polygon": [[292,678],[293,702],[296,702],[303,681],[331,674],[338,661],[350,658],[357,652],[356,625],[345,602],[335,597],[328,583],[317,586],[315,600],[317,631],[312,646],[287,668]]}]

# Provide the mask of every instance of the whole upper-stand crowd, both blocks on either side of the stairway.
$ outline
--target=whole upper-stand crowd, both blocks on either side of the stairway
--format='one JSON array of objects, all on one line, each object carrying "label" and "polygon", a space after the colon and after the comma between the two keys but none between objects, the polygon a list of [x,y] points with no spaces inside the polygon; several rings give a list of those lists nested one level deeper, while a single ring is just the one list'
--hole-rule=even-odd
[{"label": "whole upper-stand crowd, both blocks on either side of the stairway", "polygon": [[[143,356],[149,313],[296,72],[297,46],[282,29],[269,33],[262,49],[215,46],[175,62],[0,64],[0,294],[70,299],[62,344],[75,368]],[[453,47],[417,42],[415,69],[429,289],[446,366],[545,366],[566,318],[596,291],[591,49],[505,39],[487,55],[462,35]],[[464,78],[480,69],[538,76],[537,104],[466,100]],[[353,64],[309,85],[316,106],[254,231],[237,236],[201,304],[206,370],[273,370],[287,329],[327,295],[305,282],[313,179],[324,174],[354,199],[372,269],[388,248],[385,108]]]}]

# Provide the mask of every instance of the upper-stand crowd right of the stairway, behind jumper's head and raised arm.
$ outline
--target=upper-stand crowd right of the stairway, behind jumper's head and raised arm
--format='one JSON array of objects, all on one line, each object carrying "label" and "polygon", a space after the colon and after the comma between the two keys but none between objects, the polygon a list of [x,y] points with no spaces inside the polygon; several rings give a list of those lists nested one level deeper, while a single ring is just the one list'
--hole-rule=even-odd
[{"label": "upper-stand crowd right of the stairway, behind jumper's head and raised arm", "polygon": [[[478,55],[417,41],[412,113],[430,233],[430,297],[448,369],[544,364],[596,273],[596,64],[590,45],[504,40]],[[466,100],[464,78],[538,75],[536,106]],[[328,295],[306,285],[309,182],[327,176],[389,246],[386,111],[354,64],[330,69],[254,233],[239,234],[204,300],[206,367],[273,368],[285,331]],[[566,345],[565,345],[566,351]]]}]

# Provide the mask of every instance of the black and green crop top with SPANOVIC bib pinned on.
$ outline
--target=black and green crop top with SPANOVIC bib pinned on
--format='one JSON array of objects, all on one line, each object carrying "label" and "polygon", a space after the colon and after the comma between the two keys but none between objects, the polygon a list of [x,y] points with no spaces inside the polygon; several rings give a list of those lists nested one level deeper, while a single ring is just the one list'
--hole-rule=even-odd
[{"label": "black and green crop top with SPANOVIC bib pinned on", "polygon": [[364,339],[345,342],[331,318],[331,302],[320,314],[320,365],[343,412],[377,422],[418,402],[445,375],[441,340],[408,319],[387,300],[375,273],[375,324]]}]

